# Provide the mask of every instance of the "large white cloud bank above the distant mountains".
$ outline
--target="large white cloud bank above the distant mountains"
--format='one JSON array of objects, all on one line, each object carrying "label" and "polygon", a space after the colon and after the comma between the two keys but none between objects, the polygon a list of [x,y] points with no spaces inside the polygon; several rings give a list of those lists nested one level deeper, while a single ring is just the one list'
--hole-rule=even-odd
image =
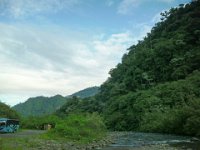
[{"label": "large white cloud bank above the distant mountains", "polygon": [[85,33],[63,34],[55,27],[0,23],[0,28],[0,100],[11,105],[100,85],[134,40],[129,32],[86,42]]}]

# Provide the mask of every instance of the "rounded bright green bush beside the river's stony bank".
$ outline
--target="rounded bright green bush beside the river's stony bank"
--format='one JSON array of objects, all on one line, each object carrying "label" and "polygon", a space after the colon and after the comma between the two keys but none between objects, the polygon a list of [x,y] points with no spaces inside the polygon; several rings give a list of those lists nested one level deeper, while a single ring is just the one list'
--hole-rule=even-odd
[{"label": "rounded bright green bush beside the river's stony bank", "polygon": [[50,138],[87,143],[105,135],[106,127],[97,114],[71,114],[58,122],[47,135]]}]

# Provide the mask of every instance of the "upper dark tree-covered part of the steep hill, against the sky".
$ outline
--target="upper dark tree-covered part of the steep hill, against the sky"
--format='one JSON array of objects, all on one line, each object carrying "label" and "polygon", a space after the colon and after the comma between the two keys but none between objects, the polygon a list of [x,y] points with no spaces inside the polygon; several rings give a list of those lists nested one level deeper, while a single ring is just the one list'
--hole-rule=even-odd
[{"label": "upper dark tree-covered part of the steep hill, against the sky", "polygon": [[[102,85],[106,99],[158,83],[184,79],[200,66],[200,1],[161,13],[143,41],[124,54]],[[105,100],[106,100],[105,99]]]}]

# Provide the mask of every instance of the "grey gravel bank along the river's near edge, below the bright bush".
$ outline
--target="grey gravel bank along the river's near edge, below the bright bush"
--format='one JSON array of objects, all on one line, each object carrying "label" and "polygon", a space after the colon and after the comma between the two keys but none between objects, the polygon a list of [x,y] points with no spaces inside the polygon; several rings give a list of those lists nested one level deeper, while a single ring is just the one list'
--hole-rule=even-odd
[{"label": "grey gravel bank along the river's near edge, below the bright bush", "polygon": [[[171,147],[168,144],[159,145],[148,145],[141,147],[109,147],[114,144],[116,138],[123,135],[127,135],[129,132],[111,132],[108,133],[107,137],[100,140],[94,141],[90,144],[78,145],[74,143],[59,143],[58,141],[38,141],[38,147],[31,150],[180,150],[178,148]],[[189,149],[188,149],[189,150]]]}]

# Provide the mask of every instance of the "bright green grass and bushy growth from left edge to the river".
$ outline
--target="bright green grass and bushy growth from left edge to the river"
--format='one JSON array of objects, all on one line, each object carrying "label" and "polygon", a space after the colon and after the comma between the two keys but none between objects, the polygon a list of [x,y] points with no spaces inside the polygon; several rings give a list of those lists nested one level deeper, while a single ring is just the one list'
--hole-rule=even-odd
[{"label": "bright green grass and bushy growth from left edge to the river", "polygon": [[[20,130],[18,132],[23,132]],[[0,150],[24,150],[44,146],[48,142],[89,144],[106,136],[106,127],[97,114],[72,114],[60,119],[54,129],[40,135],[0,137]]]}]

